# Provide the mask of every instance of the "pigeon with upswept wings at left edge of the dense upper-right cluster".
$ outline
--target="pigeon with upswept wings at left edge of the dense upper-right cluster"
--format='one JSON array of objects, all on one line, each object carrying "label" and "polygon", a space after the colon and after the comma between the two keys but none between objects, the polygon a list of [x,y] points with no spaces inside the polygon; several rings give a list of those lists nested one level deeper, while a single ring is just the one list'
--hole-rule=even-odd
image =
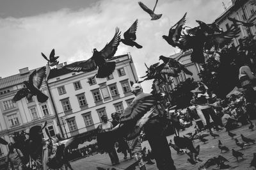
[{"label": "pigeon with upswept wings at left edge of the dense upper-right cluster", "polygon": [[[166,42],[168,42],[173,47],[176,47],[176,46],[179,47],[179,45],[180,45],[179,39],[180,39],[182,27],[184,26],[184,24],[186,22],[186,15],[187,15],[187,13],[185,13],[185,15],[182,17],[182,19],[180,19],[174,26],[172,26],[169,29],[168,36],[163,35],[163,39],[166,40]],[[173,29],[173,27],[175,27],[175,29]]]}]

